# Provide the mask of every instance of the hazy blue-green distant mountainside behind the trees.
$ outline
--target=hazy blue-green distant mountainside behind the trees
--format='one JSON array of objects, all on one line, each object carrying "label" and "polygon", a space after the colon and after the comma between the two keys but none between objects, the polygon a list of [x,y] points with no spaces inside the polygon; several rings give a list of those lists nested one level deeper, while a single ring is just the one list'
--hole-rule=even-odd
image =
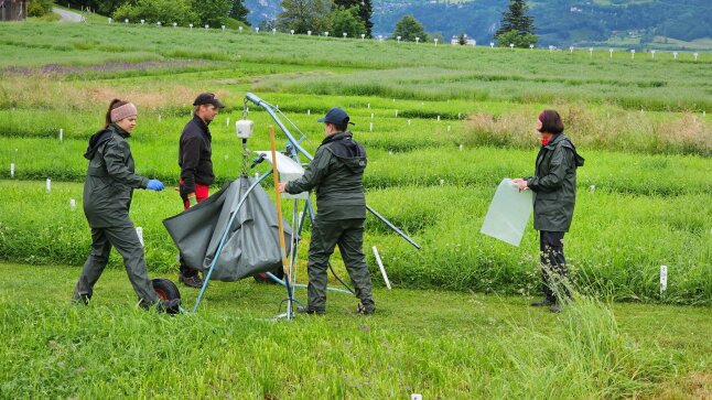
[{"label": "hazy blue-green distant mountainside behind the trees", "polygon": [[[279,0],[246,0],[256,25],[277,17]],[[413,14],[428,32],[489,43],[508,0],[374,0],[374,34],[390,35]],[[539,45],[712,47],[712,0],[529,1]],[[704,41],[708,39],[708,41]]]}]

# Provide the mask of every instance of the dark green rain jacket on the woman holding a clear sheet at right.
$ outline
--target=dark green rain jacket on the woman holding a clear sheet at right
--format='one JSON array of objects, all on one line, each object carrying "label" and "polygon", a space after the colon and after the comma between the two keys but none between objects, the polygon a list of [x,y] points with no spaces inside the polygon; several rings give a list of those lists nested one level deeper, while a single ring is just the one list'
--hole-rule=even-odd
[{"label": "dark green rain jacket on the woman holding a clear sheet at right", "polygon": [[563,133],[539,149],[535,176],[527,179],[533,192],[535,229],[569,231],[576,203],[576,167],[583,162]]}]

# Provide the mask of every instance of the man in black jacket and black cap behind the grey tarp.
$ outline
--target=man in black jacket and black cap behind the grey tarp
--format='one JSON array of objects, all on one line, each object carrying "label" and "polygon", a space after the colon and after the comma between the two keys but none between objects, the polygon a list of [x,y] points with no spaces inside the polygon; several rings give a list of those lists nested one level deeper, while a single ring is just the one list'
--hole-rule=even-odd
[{"label": "man in black jacket and black cap behind the grey tarp", "polygon": [[[202,93],[193,101],[193,119],[185,125],[179,144],[179,165],[181,166],[181,198],[185,209],[204,201],[208,188],[215,181],[213,173],[213,150],[208,125],[218,109],[225,108],[212,93]],[[186,266],[181,257],[179,281],[191,288],[202,288],[203,280],[197,270]]]}]

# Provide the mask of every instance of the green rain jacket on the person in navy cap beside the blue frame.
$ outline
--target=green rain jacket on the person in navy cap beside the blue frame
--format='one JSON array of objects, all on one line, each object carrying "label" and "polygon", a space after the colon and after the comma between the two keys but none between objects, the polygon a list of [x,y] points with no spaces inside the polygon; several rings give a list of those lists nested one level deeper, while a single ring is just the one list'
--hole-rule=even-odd
[{"label": "green rain jacket on the person in navy cap beside the blue frame", "polygon": [[316,187],[316,218],[321,220],[366,218],[366,150],[353,136],[346,131],[326,137],[304,175],[284,188],[296,194]]}]

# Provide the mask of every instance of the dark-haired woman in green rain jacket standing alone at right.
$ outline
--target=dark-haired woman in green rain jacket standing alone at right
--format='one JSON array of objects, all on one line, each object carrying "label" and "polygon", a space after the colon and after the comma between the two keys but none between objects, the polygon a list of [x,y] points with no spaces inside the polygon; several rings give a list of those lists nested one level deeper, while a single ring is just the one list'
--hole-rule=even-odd
[{"label": "dark-haired woman in green rain jacket standing alone at right", "polygon": [[541,148],[537,155],[535,176],[516,179],[520,191],[533,192],[535,229],[539,230],[542,290],[544,299],[532,306],[550,306],[561,312],[562,296],[571,298],[569,271],[563,256],[563,236],[571,227],[576,203],[576,169],[584,159],[563,133],[563,121],[555,110],[539,115],[537,130]]}]

